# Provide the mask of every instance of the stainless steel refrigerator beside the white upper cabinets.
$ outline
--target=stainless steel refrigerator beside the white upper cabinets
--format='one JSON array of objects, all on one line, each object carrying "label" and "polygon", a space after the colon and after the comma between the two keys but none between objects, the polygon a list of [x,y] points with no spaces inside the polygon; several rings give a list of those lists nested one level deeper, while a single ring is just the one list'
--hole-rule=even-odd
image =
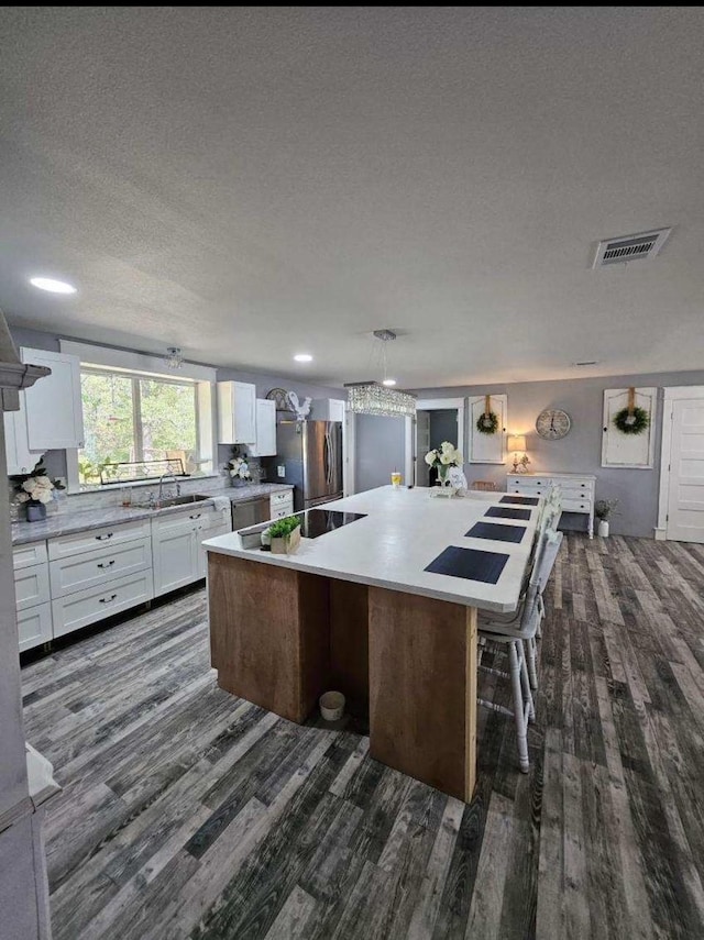
[{"label": "stainless steel refrigerator beside the white upper cabinets", "polygon": [[292,483],[296,512],[342,497],[342,422],[282,421],[276,427],[277,482]]}]

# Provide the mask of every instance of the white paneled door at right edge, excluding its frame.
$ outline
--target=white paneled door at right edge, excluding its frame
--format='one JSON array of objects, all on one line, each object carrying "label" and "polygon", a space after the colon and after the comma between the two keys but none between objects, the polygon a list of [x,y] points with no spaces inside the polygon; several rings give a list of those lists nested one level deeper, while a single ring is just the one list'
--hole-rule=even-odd
[{"label": "white paneled door at right edge, excluding its frame", "polygon": [[704,399],[672,402],[667,538],[704,542]]}]

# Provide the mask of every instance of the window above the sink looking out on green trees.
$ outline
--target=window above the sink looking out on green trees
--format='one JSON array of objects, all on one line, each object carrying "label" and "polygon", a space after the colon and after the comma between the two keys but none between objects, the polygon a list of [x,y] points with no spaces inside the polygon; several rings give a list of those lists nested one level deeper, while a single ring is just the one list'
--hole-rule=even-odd
[{"label": "window above the sink looking out on green trees", "polygon": [[100,484],[117,463],[180,458],[188,474],[212,468],[201,458],[201,383],[81,366],[80,385],[81,485]]}]

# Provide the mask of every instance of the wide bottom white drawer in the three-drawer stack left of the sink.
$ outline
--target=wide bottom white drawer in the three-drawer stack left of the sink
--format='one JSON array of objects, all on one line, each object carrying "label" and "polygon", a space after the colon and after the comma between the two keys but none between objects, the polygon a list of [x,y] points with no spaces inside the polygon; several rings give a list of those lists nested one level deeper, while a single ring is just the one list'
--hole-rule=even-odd
[{"label": "wide bottom white drawer in the three-drawer stack left of the sink", "polygon": [[96,620],[151,600],[153,596],[150,569],[116,578],[101,587],[69,594],[52,601],[54,635],[63,637]]}]

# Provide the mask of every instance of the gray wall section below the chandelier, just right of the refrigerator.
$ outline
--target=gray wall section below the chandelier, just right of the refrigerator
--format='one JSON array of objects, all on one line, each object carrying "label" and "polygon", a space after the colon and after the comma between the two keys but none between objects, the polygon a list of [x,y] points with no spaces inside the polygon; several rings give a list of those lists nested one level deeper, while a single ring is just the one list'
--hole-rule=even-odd
[{"label": "gray wall section below the chandelier, just right of the refrigerator", "polygon": [[355,491],[386,486],[392,482],[392,471],[404,473],[406,420],[355,414],[354,421]]}]

